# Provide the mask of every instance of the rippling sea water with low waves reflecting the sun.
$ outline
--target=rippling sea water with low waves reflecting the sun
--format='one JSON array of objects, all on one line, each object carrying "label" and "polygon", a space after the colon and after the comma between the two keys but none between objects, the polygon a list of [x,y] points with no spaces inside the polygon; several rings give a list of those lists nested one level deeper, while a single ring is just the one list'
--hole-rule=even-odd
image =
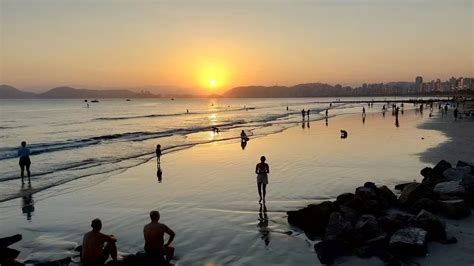
[{"label": "rippling sea water with low waves reflecting the sun", "polygon": [[[333,100],[104,99],[89,103],[89,108],[83,100],[1,100],[0,201],[21,195],[17,149],[23,140],[32,151],[32,178],[39,191],[145,163],[153,158],[156,144],[166,154],[239,138],[241,130],[251,138],[265,136],[301,121],[301,109],[311,109],[311,120],[319,120]],[[334,103],[329,114],[361,112],[361,108],[362,104]],[[379,104],[366,109],[379,112],[380,108]],[[212,133],[213,126],[221,132]]]}]

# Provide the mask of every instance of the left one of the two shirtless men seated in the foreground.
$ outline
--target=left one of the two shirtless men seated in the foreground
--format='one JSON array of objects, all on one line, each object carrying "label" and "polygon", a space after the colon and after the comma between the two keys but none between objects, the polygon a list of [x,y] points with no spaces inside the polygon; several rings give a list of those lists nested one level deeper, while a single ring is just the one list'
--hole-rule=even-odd
[{"label": "left one of the two shirtless men seated in the foreground", "polygon": [[92,231],[86,233],[82,240],[81,261],[84,266],[104,265],[105,261],[112,258],[117,261],[117,239],[113,235],[100,232],[102,222],[96,218],[91,223]]}]

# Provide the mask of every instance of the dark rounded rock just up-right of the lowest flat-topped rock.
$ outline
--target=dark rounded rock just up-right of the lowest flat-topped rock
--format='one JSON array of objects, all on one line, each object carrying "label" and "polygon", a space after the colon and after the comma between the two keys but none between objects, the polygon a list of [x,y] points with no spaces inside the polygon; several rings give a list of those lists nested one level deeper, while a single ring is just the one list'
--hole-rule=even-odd
[{"label": "dark rounded rock just up-right of the lowest flat-topped rock", "polygon": [[422,228],[428,232],[428,240],[446,239],[446,224],[436,215],[426,210],[420,211],[413,221],[413,226]]}]

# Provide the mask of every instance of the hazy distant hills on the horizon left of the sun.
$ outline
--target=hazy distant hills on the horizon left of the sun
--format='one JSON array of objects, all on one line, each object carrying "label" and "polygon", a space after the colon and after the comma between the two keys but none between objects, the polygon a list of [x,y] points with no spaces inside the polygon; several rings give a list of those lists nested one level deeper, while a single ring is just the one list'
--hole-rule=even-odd
[{"label": "hazy distant hills on the horizon left of the sun", "polygon": [[18,90],[12,86],[0,85],[0,99],[95,99],[95,98],[156,98],[148,92],[130,90],[88,90],[71,87],[57,87],[43,93]]}]

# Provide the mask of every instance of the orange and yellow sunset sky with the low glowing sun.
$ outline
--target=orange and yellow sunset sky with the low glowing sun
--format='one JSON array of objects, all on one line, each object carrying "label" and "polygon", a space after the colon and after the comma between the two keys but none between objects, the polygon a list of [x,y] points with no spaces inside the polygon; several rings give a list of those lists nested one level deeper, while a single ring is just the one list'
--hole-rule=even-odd
[{"label": "orange and yellow sunset sky with the low glowing sun", "polygon": [[1,0],[0,83],[20,89],[474,76],[472,0]]}]

